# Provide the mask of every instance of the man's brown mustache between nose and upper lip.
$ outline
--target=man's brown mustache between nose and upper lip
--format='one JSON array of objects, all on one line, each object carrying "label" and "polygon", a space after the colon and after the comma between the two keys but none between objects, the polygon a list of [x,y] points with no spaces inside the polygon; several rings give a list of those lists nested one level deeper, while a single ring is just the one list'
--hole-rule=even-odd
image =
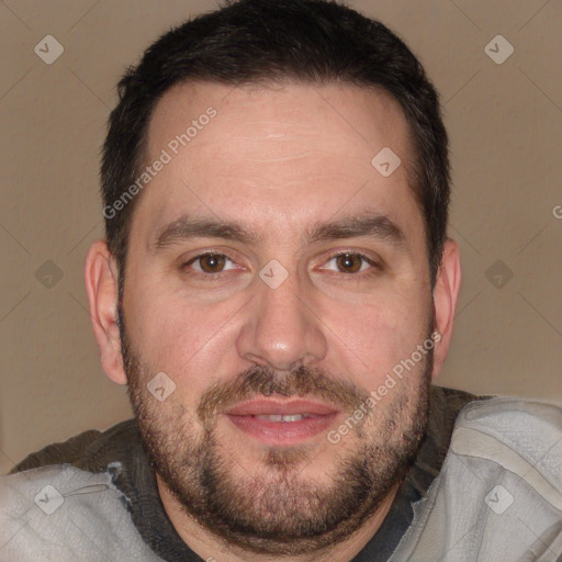
[{"label": "man's brown mustache between nose and upper lip", "polygon": [[209,427],[218,408],[257,396],[316,397],[344,412],[355,412],[369,394],[349,381],[335,380],[319,369],[300,366],[288,374],[255,366],[235,379],[213,384],[201,397],[196,408],[199,418]]}]

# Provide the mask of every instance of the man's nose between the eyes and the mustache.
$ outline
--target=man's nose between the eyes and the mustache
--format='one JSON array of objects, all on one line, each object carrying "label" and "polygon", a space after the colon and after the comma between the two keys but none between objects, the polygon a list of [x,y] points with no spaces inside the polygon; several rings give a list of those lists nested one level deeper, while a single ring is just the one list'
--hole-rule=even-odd
[{"label": "man's nose between the eyes and the mustache", "polygon": [[327,340],[314,303],[292,273],[272,289],[256,279],[255,297],[237,338],[244,359],[279,371],[314,366],[326,357]]}]

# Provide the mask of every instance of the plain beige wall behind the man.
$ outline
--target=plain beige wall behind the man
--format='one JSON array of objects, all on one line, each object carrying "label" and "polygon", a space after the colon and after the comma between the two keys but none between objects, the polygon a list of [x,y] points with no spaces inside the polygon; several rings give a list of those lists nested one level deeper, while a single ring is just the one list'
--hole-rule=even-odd
[{"label": "plain beige wall behind the man", "polygon": [[[439,382],[562,403],[562,220],[553,214],[562,215],[562,1],[349,4],[405,38],[445,103],[450,235],[464,281]],[[102,235],[99,149],[125,66],[214,5],[0,2],[1,471],[131,416],[124,389],[101,370],[82,283],[88,246]],[[498,34],[515,47],[502,65],[484,49]],[[65,48],[53,65],[34,53],[45,35]]]}]

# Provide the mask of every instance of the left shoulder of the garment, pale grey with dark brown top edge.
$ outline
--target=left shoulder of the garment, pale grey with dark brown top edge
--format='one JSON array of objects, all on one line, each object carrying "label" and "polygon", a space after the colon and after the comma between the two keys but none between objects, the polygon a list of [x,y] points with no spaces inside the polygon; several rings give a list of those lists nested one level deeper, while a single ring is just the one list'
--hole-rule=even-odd
[{"label": "left shoulder of the garment, pale grey with dark brown top edge", "polygon": [[[154,562],[119,485],[138,460],[134,420],[36,451],[0,477],[0,560]],[[9,558],[2,558],[9,557]]]}]

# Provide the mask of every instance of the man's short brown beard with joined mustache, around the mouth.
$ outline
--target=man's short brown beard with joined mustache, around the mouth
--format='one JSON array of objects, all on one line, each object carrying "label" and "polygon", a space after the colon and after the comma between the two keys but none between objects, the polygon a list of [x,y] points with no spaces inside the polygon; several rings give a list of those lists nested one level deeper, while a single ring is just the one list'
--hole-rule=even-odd
[{"label": "man's short brown beard with joined mustache, around the mouth", "polygon": [[432,349],[351,431],[353,440],[328,445],[337,454],[328,484],[302,474],[314,462],[306,447],[270,448],[249,474],[221,445],[216,403],[260,394],[316,396],[345,404],[352,416],[368,394],[308,369],[277,379],[255,368],[210,389],[196,413],[188,413],[178,402],[160,403],[148,393],[154,372],[132,352],[124,325],[122,345],[130,398],[151,465],[186,514],[229,547],[249,552],[319,553],[349,539],[403,481],[427,426]]}]

